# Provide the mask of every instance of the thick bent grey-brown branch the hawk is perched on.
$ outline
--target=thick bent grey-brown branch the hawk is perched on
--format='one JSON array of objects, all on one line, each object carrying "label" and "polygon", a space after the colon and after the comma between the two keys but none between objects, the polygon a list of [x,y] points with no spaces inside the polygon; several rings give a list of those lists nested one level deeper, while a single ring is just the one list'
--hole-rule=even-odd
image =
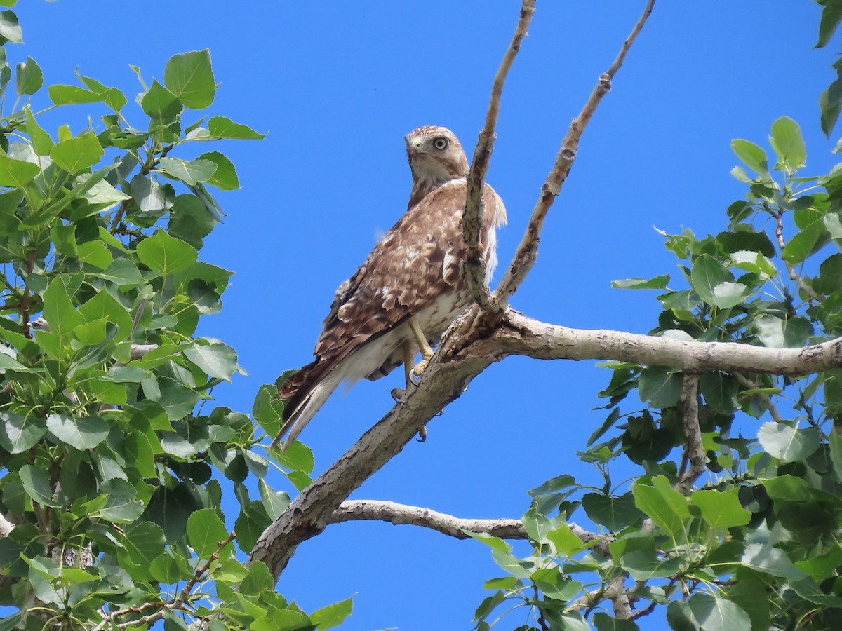
[{"label": "thick bent grey-brown branch the hawk is perched on", "polygon": [[538,359],[614,359],[668,366],[690,373],[750,370],[810,374],[842,367],[842,338],[802,348],[766,348],[733,342],[685,342],[620,331],[585,331],[533,320],[507,309],[493,328],[482,326],[476,307],[445,333],[424,377],[405,400],[332,464],[261,535],[252,559],[278,576],[296,546],[321,533],[352,491],[406,445],[477,374],[509,355]]}]

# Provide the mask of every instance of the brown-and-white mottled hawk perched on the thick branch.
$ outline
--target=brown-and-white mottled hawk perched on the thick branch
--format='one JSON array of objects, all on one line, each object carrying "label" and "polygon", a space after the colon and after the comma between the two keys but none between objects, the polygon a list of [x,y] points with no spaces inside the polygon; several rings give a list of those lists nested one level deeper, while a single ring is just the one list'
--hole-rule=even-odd
[{"label": "brown-and-white mottled hawk perched on the thick branch", "polygon": [[[426,360],[450,323],[471,304],[461,274],[461,218],[468,162],[456,135],[419,127],[406,138],[413,189],[407,212],[386,232],[354,275],[337,289],[316,359],[280,387],[289,445],[340,383],[380,379],[416,353]],[[495,229],[506,222],[503,200],[485,185],[482,229],[487,277],[497,264]],[[418,367],[416,368],[417,372]]]}]

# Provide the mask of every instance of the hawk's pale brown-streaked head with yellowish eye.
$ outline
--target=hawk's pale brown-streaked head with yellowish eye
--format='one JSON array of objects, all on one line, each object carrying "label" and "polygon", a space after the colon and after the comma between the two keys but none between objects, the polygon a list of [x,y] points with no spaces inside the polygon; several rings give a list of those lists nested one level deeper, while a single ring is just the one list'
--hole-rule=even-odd
[{"label": "hawk's pale brown-streaked head with yellowish eye", "polygon": [[413,171],[413,193],[409,208],[434,188],[468,174],[468,160],[456,135],[445,127],[428,125],[405,137],[409,168]]}]

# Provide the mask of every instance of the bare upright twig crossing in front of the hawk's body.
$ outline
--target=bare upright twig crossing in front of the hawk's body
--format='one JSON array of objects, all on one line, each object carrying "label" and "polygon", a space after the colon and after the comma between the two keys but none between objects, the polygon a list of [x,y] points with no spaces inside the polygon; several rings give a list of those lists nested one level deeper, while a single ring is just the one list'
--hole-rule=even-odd
[{"label": "bare upright twig crossing in front of the hawk's body", "polygon": [[477,147],[471,162],[471,171],[467,178],[467,200],[465,214],[462,218],[462,233],[465,236],[465,268],[463,273],[468,284],[468,289],[474,302],[480,305],[483,310],[498,310],[494,301],[488,296],[488,288],[485,286],[485,262],[482,258],[484,245],[480,242],[482,235],[482,215],[485,212],[485,204],[482,201],[482,190],[485,188],[485,175],[488,172],[488,162],[494,151],[494,140],[497,138],[494,129],[497,127],[498,114],[500,112],[500,97],[503,95],[503,84],[509,68],[512,67],[514,57],[520,50],[520,44],[526,36],[526,30],[532,15],[535,13],[535,0],[524,0],[520,7],[520,19],[514,29],[512,41],[503,56],[494,82],[491,88],[491,98],[488,103],[488,112],[485,116],[485,125],[479,133]]}]

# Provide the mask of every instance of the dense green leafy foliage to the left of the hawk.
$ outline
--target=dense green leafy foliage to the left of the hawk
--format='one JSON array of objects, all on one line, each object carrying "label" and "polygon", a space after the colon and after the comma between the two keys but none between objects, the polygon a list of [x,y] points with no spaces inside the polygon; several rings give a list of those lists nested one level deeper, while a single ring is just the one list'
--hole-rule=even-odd
[{"label": "dense green leafy foliage to the left of the hawk", "polygon": [[[0,36],[21,41],[11,10]],[[200,260],[221,219],[208,186],[238,181],[221,152],[190,147],[263,135],[195,114],[216,94],[207,50],[173,56],[163,82],[141,79],[139,110],[91,77],[45,88],[31,57],[14,70],[0,59],[15,102],[0,118],[0,603],[17,607],[0,628],[334,626],[350,602],[309,617],[265,565],[239,560],[235,541],[248,552],[289,497],[263,480],[252,418],[205,411],[242,372],[231,347],[195,337],[232,274]],[[73,104],[104,114],[47,129]],[[279,406],[262,390],[255,408],[276,422]],[[306,484],[306,448],[284,464]]]}]

